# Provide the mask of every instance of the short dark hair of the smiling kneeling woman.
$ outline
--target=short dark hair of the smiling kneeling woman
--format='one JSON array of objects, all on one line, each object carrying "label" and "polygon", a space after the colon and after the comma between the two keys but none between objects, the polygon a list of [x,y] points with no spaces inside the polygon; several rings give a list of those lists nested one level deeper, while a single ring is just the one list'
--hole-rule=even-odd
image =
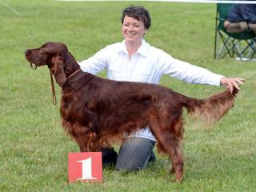
[{"label": "short dark hair of the smiling kneeling woman", "polygon": [[143,6],[128,6],[122,11],[121,22],[123,24],[123,19],[128,16],[142,21],[146,30],[150,29],[151,18],[150,13]]}]

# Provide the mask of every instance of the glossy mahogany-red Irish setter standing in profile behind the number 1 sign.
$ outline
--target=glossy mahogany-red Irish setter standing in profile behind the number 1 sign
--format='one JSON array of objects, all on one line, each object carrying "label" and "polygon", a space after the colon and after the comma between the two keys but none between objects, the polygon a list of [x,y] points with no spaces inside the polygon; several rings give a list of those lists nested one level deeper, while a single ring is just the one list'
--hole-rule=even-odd
[{"label": "glossy mahogany-red Irish setter standing in profile behind the number 1 sign", "polygon": [[62,87],[62,126],[81,151],[111,146],[125,135],[148,126],[160,152],[168,154],[171,173],[182,181],[182,108],[206,122],[217,122],[232,106],[238,90],[206,99],[188,98],[164,86],[140,82],[116,82],[83,72],[59,42],[46,42],[25,51],[30,65],[46,65]]}]

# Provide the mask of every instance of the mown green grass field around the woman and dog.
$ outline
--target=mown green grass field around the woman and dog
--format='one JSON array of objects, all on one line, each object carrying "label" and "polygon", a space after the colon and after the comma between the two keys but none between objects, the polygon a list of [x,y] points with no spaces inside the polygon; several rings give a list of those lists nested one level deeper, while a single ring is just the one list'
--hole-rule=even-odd
[{"label": "mown green grass field around the woman and dog", "polygon": [[[5,2],[19,14],[0,4],[1,191],[255,191],[256,63],[214,60],[214,4]],[[201,128],[185,115],[182,184],[166,176],[170,163],[160,155],[138,173],[106,169],[102,183],[68,184],[67,154],[78,151],[78,146],[62,130],[59,102],[52,105],[49,71],[30,70],[24,50],[58,41],[65,42],[78,61],[88,58],[122,41],[121,11],[130,4],[150,10],[152,28],[146,40],[151,45],[216,73],[246,78],[246,83],[234,108],[214,129]],[[196,98],[223,90],[169,77],[161,84]]]}]

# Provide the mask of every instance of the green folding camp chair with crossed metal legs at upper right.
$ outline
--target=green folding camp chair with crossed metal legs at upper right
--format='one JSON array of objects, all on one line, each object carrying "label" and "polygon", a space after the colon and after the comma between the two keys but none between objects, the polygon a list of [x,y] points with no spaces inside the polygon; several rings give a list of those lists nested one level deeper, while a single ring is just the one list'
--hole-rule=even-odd
[{"label": "green folding camp chair with crossed metal legs at upper right", "polygon": [[256,58],[256,35],[251,30],[242,33],[228,33],[224,22],[230,12],[230,3],[217,3],[215,24],[214,58],[224,58],[229,55],[238,60],[250,61]]}]

